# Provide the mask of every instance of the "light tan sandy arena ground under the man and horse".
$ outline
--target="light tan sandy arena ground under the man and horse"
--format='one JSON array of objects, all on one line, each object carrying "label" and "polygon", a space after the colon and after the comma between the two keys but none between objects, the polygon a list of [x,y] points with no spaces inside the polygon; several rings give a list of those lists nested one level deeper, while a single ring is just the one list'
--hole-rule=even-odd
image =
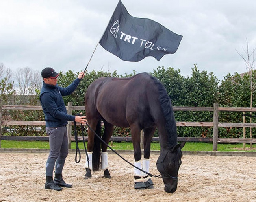
[{"label": "light tan sandy arena ground under the man and horse", "polygon": [[[256,157],[184,155],[178,188],[164,191],[161,178],[152,178],[154,189],[135,190],[133,167],[116,154],[109,154],[112,178],[102,171],[85,180],[85,154],[75,163],[67,157],[63,176],[73,188],[45,190],[47,153],[0,153],[0,202],[256,202]],[[133,162],[132,154],[122,154]],[[150,173],[158,174],[151,155]]]}]

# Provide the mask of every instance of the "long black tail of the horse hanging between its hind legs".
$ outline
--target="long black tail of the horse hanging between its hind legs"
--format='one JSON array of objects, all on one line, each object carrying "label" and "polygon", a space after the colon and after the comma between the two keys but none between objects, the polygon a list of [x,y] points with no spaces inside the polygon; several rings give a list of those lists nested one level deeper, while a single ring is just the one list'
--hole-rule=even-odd
[{"label": "long black tail of the horse hanging between its hind legs", "polygon": [[[99,120],[95,132],[101,137],[101,120]],[[93,145],[93,162],[92,162],[93,171],[100,170],[100,151],[101,151],[101,140],[95,135],[94,145]]]}]

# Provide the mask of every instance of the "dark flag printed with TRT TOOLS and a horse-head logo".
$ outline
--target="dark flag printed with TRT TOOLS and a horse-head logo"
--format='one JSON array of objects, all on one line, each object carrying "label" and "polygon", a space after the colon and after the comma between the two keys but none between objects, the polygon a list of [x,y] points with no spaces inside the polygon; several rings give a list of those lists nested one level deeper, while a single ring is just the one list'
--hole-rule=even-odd
[{"label": "dark flag printed with TRT TOOLS and a horse-head logo", "polygon": [[100,45],[124,61],[153,56],[158,61],[176,52],[182,39],[158,22],[132,17],[121,0],[100,39]]}]

